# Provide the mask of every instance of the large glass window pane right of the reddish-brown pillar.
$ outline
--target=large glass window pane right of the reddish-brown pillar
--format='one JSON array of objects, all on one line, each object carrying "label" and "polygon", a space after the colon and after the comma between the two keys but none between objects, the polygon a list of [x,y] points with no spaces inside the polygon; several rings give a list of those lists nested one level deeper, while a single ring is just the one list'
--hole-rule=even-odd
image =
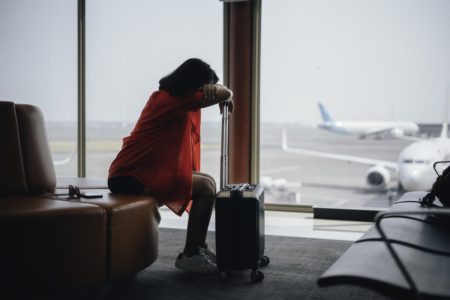
[{"label": "large glass window pane right of the reddish-brown pillar", "polygon": [[[327,125],[322,116],[328,113],[334,121],[361,121],[356,125],[372,131],[377,127],[365,121],[412,121],[420,127],[414,137],[438,135],[450,82],[450,2],[266,0],[262,5],[261,181],[267,201],[388,206],[402,194],[392,165],[413,143],[399,138],[406,132],[345,135],[318,125]],[[319,103],[327,113],[320,113]],[[283,132],[285,149],[295,151],[282,150]],[[330,153],[353,156],[352,163]],[[371,187],[368,179],[387,184]]]}]

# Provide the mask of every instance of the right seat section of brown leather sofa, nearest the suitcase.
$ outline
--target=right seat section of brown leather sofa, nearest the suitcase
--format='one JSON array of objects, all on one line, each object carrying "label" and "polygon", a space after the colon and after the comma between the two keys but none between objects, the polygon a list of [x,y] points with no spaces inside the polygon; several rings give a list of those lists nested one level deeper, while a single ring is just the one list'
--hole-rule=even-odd
[{"label": "right seat section of brown leather sofa, nearest the suitcase", "polygon": [[98,205],[108,216],[108,278],[136,273],[154,262],[158,255],[161,220],[156,199],[146,195],[112,194],[107,189],[88,191],[103,197],[81,198],[80,202]]}]

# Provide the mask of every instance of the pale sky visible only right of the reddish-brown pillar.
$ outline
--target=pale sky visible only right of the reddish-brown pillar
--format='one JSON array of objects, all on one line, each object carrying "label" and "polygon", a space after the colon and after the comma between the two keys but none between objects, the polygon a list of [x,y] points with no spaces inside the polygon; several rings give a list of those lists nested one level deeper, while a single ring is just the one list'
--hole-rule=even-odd
[{"label": "pale sky visible only right of the reddish-brown pillar", "polygon": [[442,121],[450,1],[263,2],[262,119]]}]

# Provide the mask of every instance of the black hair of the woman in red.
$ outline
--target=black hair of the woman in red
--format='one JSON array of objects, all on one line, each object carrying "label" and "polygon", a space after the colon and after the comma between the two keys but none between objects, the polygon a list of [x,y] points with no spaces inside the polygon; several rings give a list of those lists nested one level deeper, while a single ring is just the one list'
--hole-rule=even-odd
[{"label": "black hair of the woman in red", "polygon": [[198,58],[190,58],[169,75],[161,78],[159,89],[175,97],[183,97],[204,84],[217,83],[219,77],[211,67]]}]

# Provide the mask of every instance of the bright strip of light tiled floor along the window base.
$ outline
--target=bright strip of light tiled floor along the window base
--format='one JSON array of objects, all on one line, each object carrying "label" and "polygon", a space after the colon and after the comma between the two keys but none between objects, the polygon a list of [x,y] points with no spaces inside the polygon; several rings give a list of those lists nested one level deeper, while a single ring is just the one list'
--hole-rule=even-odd
[{"label": "bright strip of light tiled floor along the window base", "polygon": [[[166,207],[160,208],[161,224],[165,228],[187,226],[188,215],[178,217]],[[295,236],[319,239],[355,241],[371,226],[370,222],[314,219],[312,213],[266,211],[266,235]],[[209,230],[214,231],[214,213]]]}]

